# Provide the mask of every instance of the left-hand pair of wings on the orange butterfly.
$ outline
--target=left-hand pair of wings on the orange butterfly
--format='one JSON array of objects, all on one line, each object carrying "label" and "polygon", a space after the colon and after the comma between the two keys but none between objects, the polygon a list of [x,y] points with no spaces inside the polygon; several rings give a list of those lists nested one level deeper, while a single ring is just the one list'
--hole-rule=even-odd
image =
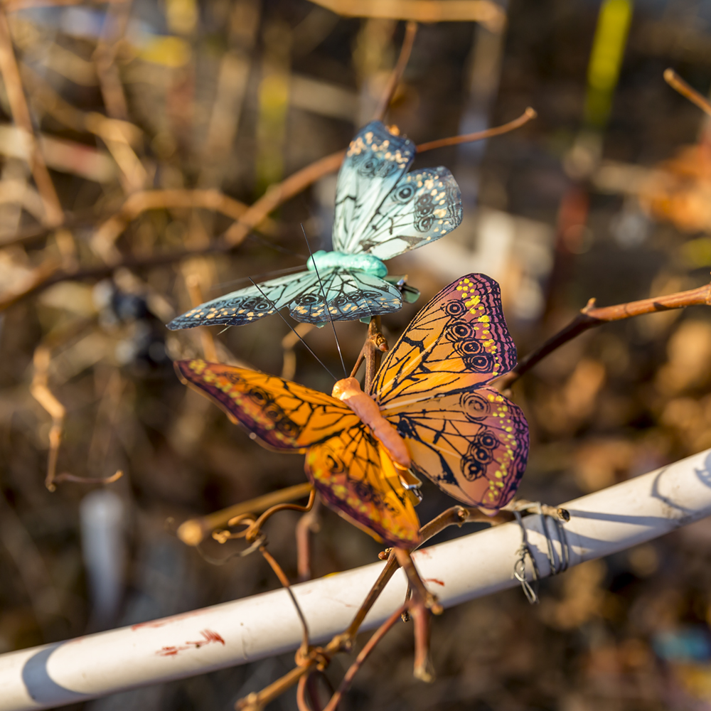
[{"label": "left-hand pair of wings on the orange butterfly", "polygon": [[306,451],[306,473],[326,503],[374,538],[412,547],[419,521],[390,456],[343,402],[256,370],[179,360],[178,376],[261,444]]}]

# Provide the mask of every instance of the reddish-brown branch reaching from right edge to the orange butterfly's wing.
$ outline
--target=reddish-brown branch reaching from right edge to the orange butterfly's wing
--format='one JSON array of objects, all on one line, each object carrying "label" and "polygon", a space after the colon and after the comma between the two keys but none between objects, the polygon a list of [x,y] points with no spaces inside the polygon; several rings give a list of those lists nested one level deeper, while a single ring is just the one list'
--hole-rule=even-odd
[{"label": "reddish-brown branch reaching from right edge to the orange butterfly's wing", "polygon": [[585,331],[595,326],[602,326],[610,321],[621,321],[632,316],[643,316],[643,314],[654,314],[656,311],[669,311],[670,309],[685,309],[687,306],[711,306],[711,284],[705,284],[698,289],[690,289],[688,292],[678,292],[668,296],[653,296],[651,299],[641,299],[640,301],[629,301],[627,304],[616,304],[616,306],[595,306],[595,299],[590,299],[584,309],[568,324],[562,328],[555,336],[551,336],[542,346],[539,346],[532,353],[522,358],[518,365],[506,373],[502,378],[496,380],[498,390],[506,390],[511,387],[522,375],[535,365],[538,365],[543,358],[550,355],[560,346],[572,341]]}]

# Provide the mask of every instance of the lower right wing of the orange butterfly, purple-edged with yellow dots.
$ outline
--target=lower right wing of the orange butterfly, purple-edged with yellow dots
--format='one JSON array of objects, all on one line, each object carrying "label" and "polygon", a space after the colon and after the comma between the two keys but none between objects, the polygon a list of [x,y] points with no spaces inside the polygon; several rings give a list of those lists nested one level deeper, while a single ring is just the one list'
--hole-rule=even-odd
[{"label": "lower right wing of the orange butterfly, purple-edged with yellow dots", "polygon": [[491,387],[443,395],[391,410],[412,469],[449,496],[498,510],[513,497],[528,459],[528,424]]}]

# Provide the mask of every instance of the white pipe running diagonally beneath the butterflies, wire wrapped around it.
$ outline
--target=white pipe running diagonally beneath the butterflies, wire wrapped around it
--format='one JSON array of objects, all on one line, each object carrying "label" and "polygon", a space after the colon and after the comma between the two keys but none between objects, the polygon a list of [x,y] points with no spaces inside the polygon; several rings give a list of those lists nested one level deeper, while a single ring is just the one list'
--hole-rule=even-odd
[{"label": "white pipe running diagonally beneath the butterflies, wire wrapped around it", "polygon": [[[711,514],[711,450],[563,504],[570,565],[609,555]],[[524,519],[543,576],[550,573],[538,516]],[[555,541],[560,557],[560,543]],[[517,585],[516,523],[415,553],[444,606]],[[383,563],[294,586],[311,629],[324,641],[346,629]],[[397,571],[365,621],[372,629],[402,604]],[[437,621],[434,621],[437,624]],[[301,627],[282,589],[144,624],[0,655],[0,711],[46,709],[203,674],[295,649]]]}]

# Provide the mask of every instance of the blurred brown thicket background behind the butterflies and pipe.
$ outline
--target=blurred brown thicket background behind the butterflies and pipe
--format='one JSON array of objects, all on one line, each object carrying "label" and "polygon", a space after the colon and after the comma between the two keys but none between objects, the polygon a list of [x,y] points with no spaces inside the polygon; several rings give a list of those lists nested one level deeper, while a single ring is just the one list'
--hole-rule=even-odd
[{"label": "blurred brown thicket background behind the butterflies and pipe", "polygon": [[[358,2],[324,4],[358,14]],[[538,119],[417,157],[454,173],[464,222],[390,262],[422,299],[383,319],[389,338],[469,271],[501,282],[521,354],[592,296],[604,306],[707,283],[711,134],[662,75],[671,66],[707,94],[711,3],[468,6],[487,21],[419,27],[387,122],[420,143],[529,105]],[[330,246],[335,174],[240,244],[220,240],[269,186],[343,149],[373,115],[405,23],[332,10],[307,0],[2,2],[0,651],[277,587],[262,558],[229,558],[236,545],[210,540],[198,552],[176,529],[303,482],[302,458],[250,442],[178,383],[171,360],[215,348],[311,387],[331,380],[276,317],[215,329],[214,343],[164,324],[201,296],[304,264],[301,224],[314,248]],[[365,326],[338,324],[338,334],[353,363]],[[329,329],[304,337],[338,367]],[[711,447],[710,359],[702,307],[604,326],[555,352],[515,387],[532,435],[520,494],[560,503]],[[65,479],[53,492],[51,451]],[[67,481],[118,470],[105,485]],[[424,494],[422,521],[453,503],[428,484]],[[298,520],[285,512],[266,528],[292,579]],[[314,576],[375,560],[381,547],[330,510],[318,523]],[[711,708],[710,562],[706,520],[545,582],[538,606],[515,589],[448,610],[433,624],[432,685],[412,678],[412,629],[398,625],[343,708]],[[292,663],[81,707],[227,711]],[[347,665],[333,662],[332,683]],[[272,707],[295,709],[294,693]]]}]

